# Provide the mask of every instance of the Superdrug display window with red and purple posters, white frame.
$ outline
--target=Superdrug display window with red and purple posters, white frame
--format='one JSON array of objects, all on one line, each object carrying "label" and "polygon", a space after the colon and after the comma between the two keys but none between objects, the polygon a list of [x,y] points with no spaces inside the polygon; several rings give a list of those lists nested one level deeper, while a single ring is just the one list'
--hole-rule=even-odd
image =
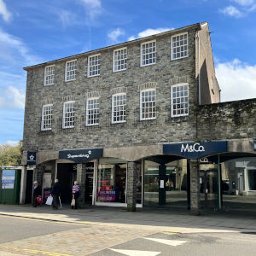
[{"label": "Superdrug display window with red and purple posters, white frame", "polygon": [[97,202],[126,202],[126,162],[118,159],[99,160]]}]

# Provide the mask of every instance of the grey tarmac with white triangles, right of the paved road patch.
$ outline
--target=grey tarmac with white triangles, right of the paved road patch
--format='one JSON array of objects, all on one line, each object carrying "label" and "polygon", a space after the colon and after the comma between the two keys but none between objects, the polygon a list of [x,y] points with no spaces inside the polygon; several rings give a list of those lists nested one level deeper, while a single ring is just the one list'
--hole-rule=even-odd
[{"label": "grey tarmac with white triangles, right of the paved road patch", "polygon": [[157,233],[102,250],[91,256],[234,256],[256,255],[256,233]]}]

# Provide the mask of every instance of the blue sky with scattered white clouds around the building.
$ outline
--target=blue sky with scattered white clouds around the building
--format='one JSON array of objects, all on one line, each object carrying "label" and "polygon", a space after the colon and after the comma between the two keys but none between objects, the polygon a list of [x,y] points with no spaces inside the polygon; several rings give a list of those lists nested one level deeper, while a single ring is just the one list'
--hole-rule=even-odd
[{"label": "blue sky with scattered white clouds around the building", "polygon": [[203,21],[221,101],[256,98],[256,0],[0,0],[0,144],[23,136],[23,67]]}]

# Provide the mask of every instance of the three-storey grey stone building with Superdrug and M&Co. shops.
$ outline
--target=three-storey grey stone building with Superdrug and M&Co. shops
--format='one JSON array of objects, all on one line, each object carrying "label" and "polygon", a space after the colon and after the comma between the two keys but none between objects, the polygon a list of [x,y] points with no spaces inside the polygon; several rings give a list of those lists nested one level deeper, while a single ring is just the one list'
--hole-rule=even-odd
[{"label": "three-storey grey stone building with Superdrug and M&Co. shops", "polygon": [[236,131],[243,113],[233,120],[236,104],[218,103],[207,22],[24,69],[20,203],[26,166],[35,165],[43,192],[60,180],[64,203],[77,180],[80,207],[200,213],[222,207],[221,157],[239,147],[253,154],[254,128]]}]

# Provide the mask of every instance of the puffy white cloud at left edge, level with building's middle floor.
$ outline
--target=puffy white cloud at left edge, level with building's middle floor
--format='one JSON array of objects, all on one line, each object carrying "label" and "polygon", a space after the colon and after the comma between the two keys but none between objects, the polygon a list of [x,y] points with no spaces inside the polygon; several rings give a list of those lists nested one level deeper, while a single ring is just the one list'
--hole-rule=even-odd
[{"label": "puffy white cloud at left edge, level with building's middle floor", "polygon": [[14,86],[0,90],[0,107],[3,108],[24,108],[25,93]]}]

